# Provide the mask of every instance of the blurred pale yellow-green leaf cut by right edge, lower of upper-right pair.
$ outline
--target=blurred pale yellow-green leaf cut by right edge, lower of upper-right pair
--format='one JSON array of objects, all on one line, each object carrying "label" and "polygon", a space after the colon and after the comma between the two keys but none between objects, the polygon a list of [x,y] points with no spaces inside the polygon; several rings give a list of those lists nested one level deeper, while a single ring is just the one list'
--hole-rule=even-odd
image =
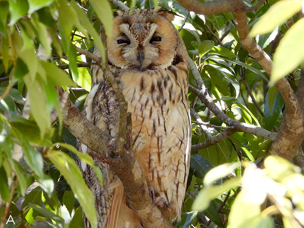
[{"label": "blurred pale yellow-green leaf cut by right edge, lower of upper-right pair", "polygon": [[303,34],[304,18],[291,26],[275,50],[269,86],[274,85],[275,82],[298,67],[304,61]]}]

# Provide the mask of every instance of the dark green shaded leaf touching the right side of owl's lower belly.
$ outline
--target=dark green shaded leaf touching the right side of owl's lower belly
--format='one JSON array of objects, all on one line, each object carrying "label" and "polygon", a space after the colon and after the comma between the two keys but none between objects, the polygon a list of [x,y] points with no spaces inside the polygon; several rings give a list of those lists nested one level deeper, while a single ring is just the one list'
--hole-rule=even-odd
[{"label": "dark green shaded leaf touching the right side of owl's lower belly", "polygon": [[206,173],[214,166],[205,157],[193,154],[190,157],[190,170],[198,178],[204,178]]}]

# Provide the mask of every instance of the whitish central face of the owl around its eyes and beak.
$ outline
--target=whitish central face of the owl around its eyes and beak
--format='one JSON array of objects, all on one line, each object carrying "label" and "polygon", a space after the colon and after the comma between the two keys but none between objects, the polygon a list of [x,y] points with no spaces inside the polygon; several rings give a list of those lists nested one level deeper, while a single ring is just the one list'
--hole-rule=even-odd
[{"label": "whitish central face of the owl around its eyes and beak", "polygon": [[[138,69],[149,69],[158,65],[162,38],[157,34],[158,27],[155,23],[147,23],[147,35],[136,36],[136,31],[130,31],[130,25],[123,23],[119,25],[120,35],[116,37],[117,47],[129,66]],[[140,29],[139,29],[140,30]],[[137,33],[138,34],[138,33]]]}]

